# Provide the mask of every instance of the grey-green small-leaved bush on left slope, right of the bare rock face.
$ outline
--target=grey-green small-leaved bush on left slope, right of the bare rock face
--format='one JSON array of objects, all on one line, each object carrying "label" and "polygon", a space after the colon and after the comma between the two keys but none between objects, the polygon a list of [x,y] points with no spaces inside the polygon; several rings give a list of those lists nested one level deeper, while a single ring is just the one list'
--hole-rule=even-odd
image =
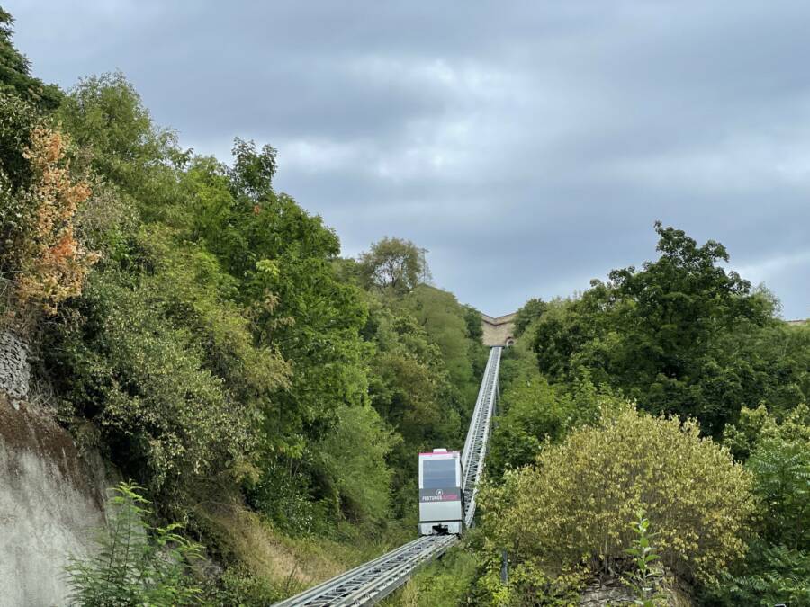
[{"label": "grey-green small-leaved bush on left slope, right of the bare rock face", "polygon": [[156,313],[157,291],[111,274],[88,285],[79,329],[63,327],[58,364],[71,372],[60,388],[71,413],[97,424],[116,463],[176,495],[234,466],[257,414],[235,406],[205,368],[196,335]]}]

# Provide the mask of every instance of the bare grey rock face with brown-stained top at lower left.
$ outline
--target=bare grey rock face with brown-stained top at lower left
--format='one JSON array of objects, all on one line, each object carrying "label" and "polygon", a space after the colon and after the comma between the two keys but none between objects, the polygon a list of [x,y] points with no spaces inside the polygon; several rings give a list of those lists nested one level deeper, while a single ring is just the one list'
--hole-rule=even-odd
[{"label": "bare grey rock face with brown-stained top at lower left", "polygon": [[103,467],[80,456],[47,409],[23,400],[24,344],[8,335],[0,344],[0,607],[64,605],[63,567],[103,525]]}]

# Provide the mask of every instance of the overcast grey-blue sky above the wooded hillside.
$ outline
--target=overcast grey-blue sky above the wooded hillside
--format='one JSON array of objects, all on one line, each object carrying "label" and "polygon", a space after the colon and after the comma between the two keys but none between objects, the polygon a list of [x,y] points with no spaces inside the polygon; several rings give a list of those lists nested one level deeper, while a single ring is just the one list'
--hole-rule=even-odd
[{"label": "overcast grey-blue sky above the wooded hillside", "polygon": [[120,69],[184,147],[271,144],[344,254],[410,238],[488,314],[653,259],[662,219],[810,317],[804,0],[3,4],[37,76]]}]

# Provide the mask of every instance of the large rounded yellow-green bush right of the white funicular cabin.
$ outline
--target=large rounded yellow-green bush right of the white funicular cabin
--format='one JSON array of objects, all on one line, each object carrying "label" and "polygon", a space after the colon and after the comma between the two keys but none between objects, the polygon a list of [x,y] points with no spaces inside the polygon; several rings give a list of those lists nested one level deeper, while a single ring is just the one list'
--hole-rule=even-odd
[{"label": "large rounded yellow-green bush right of the white funicular cabin", "polygon": [[606,410],[598,426],[573,431],[536,464],[482,492],[492,547],[550,573],[581,563],[621,567],[628,525],[644,507],[659,532],[663,564],[676,576],[713,580],[745,548],[753,512],[751,475],[698,424]]}]

